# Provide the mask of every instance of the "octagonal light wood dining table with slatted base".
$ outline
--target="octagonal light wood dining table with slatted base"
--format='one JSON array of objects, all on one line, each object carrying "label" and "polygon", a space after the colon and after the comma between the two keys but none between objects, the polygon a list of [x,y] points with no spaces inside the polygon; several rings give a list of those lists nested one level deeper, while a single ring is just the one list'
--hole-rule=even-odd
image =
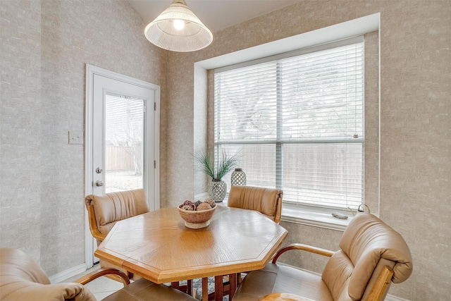
[{"label": "octagonal light wood dining table with slatted base", "polygon": [[214,276],[214,300],[223,300],[223,276],[229,276],[230,299],[240,273],[263,269],[288,231],[254,210],[216,205],[206,228],[187,228],[177,207],[168,207],[118,221],[94,252],[154,283],[202,278],[202,300],[208,300],[206,279]]}]

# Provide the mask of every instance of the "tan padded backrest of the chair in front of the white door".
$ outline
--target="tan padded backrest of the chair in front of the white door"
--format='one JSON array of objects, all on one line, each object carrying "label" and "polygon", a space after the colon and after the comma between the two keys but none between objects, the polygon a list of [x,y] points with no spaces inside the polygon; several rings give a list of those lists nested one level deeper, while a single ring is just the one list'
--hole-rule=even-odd
[{"label": "tan padded backrest of the chair in front of the white door", "polygon": [[143,189],[88,195],[85,204],[92,236],[100,243],[117,221],[149,212]]}]

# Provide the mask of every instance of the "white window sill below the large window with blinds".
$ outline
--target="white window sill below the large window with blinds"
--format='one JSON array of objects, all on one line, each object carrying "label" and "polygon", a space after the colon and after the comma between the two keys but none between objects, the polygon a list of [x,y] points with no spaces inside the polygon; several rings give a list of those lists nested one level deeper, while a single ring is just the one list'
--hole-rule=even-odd
[{"label": "white window sill below the large window with blinds", "polygon": [[326,228],[335,231],[345,231],[347,224],[352,219],[352,215],[350,216],[347,214],[347,219],[337,219],[332,216],[332,212],[335,211],[337,210],[290,207],[285,204],[282,208],[281,221],[288,223],[299,223],[306,226]]}]

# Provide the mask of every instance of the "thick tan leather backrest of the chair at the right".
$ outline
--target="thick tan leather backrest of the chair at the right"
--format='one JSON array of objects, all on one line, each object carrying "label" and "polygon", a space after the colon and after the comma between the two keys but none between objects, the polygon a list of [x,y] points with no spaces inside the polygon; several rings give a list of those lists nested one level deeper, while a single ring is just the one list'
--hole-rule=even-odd
[{"label": "thick tan leather backrest of the chair at the right", "polygon": [[[391,282],[401,283],[412,274],[412,255],[407,243],[400,233],[372,214],[357,214],[350,221],[340,240],[340,249],[330,257],[322,274],[335,301],[383,300]],[[381,280],[378,283],[378,279],[385,272],[387,285],[373,298],[376,288],[383,283]]]}]

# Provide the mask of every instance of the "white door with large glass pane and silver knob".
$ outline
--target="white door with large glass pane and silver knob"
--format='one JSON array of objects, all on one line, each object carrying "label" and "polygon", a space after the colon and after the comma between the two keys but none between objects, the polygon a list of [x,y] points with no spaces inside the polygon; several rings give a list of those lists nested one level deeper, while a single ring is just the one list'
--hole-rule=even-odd
[{"label": "white door with large glass pane and silver knob", "polygon": [[[87,65],[86,195],[144,188],[159,208],[158,104],[158,86]],[[87,231],[88,268],[96,248]]]}]

